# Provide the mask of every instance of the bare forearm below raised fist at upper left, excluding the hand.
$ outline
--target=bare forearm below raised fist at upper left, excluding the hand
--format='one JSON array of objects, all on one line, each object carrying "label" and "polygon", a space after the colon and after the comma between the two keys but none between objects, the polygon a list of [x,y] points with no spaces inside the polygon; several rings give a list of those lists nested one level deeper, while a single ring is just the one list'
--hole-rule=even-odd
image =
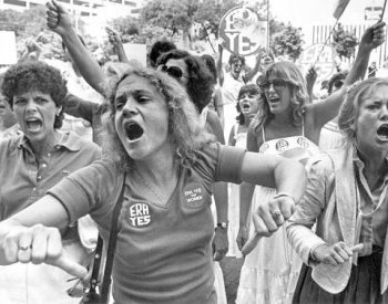
[{"label": "bare forearm below raised fist at upper left, excluding the hand", "polygon": [[91,56],[88,49],[81,43],[73,28],[62,35],[69,53],[75,62],[84,80],[99,93],[105,92],[105,77],[99,63]]}]

